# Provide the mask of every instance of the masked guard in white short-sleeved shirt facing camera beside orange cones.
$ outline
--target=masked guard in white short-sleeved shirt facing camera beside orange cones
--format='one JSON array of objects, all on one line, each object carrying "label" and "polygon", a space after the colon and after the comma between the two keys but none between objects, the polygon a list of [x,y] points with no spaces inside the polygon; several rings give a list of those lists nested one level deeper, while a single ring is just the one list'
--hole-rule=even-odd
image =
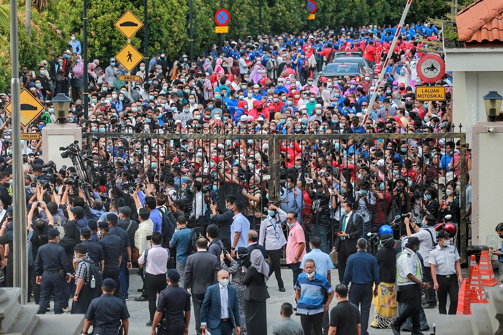
[{"label": "masked guard in white short-sleeved shirt facing camera beside orange cones", "polygon": [[463,282],[459,254],[457,248],[451,245],[449,233],[441,231],[438,234],[438,239],[439,244],[430,251],[429,258],[432,265],[433,289],[437,291],[439,298],[440,314],[447,314],[447,294],[449,294],[451,301],[449,314],[456,314],[459,284]]}]

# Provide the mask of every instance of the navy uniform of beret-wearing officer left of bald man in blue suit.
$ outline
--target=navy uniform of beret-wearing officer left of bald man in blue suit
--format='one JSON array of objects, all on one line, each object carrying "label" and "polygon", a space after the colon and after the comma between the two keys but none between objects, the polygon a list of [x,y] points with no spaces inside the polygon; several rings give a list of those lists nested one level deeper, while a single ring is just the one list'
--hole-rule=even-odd
[{"label": "navy uniform of beret-wearing officer left of bald man in blue suit", "polygon": [[190,293],[178,284],[168,286],[159,293],[157,311],[167,319],[167,329],[162,322],[157,326],[157,335],[183,335],[185,332],[185,313],[190,311]]}]

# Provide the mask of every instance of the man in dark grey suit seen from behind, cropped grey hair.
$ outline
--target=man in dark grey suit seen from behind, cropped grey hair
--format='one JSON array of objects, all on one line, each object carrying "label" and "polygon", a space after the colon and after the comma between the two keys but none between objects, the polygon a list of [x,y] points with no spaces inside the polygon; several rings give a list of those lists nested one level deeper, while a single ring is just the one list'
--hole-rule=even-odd
[{"label": "man in dark grey suit seen from behind, cropped grey hair", "polygon": [[215,255],[206,251],[208,241],[199,238],[196,243],[197,253],[187,258],[185,266],[184,288],[191,289],[192,303],[194,304],[194,318],[196,319],[196,332],[201,335],[200,312],[204,294],[208,286],[217,282],[217,273],[220,262]]}]

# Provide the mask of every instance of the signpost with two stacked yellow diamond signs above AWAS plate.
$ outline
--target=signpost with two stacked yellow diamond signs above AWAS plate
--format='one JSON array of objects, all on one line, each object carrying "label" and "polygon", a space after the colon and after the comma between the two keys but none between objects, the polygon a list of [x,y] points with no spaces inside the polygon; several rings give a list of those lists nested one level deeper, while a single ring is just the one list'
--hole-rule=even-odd
[{"label": "signpost with two stacked yellow diamond signs above AWAS plate", "polygon": [[[146,11],[146,3],[145,3],[145,11]],[[146,16],[145,16],[146,18]],[[145,23],[146,23],[145,19]],[[131,75],[131,70],[134,69],[138,63],[144,59],[144,57],[136,50],[133,45],[131,44],[131,37],[136,34],[138,30],[140,30],[141,27],[143,27],[143,23],[138,20],[138,18],[130,11],[127,10],[126,13],[124,13],[119,20],[114,24],[114,26],[119,29],[119,31],[127,37],[127,44],[126,46],[119,51],[117,55],[115,55],[115,59],[117,59],[126,70],[128,70],[129,75],[128,76],[122,76],[119,75],[119,80],[124,80],[124,81],[135,81],[135,80],[140,80],[139,76],[132,76]],[[146,34],[146,31],[145,31]],[[147,39],[145,36],[145,45],[147,43]],[[145,47],[145,57],[147,52],[147,48]],[[147,72],[150,69],[147,69]],[[123,79],[121,79],[121,77]],[[131,98],[131,85],[128,85],[128,94],[129,98]]]}]

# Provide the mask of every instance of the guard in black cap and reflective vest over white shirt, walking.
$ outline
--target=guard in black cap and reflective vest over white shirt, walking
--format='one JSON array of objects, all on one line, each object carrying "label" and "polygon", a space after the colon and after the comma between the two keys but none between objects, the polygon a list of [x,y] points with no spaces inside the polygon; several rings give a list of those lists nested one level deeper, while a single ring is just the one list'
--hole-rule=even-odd
[{"label": "guard in black cap and reflective vest over white shirt, walking", "polygon": [[409,316],[412,321],[412,334],[421,333],[419,318],[423,294],[421,288],[428,289],[430,284],[422,281],[423,267],[421,260],[415,254],[419,250],[420,245],[421,241],[417,237],[408,238],[405,249],[403,249],[396,261],[396,283],[400,287],[405,309],[391,323],[394,335],[400,335],[400,327]]}]

